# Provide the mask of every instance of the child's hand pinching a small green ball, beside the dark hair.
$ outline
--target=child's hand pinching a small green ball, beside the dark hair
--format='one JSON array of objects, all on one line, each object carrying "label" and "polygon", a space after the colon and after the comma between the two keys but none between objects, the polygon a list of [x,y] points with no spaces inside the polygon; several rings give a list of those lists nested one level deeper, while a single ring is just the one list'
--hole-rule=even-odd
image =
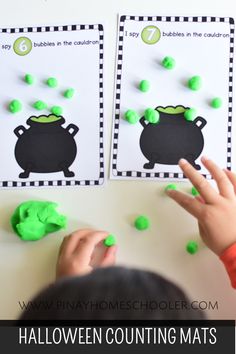
[{"label": "child's hand pinching a small green ball, beside the dark hair", "polygon": [[117,247],[108,247],[102,260],[91,265],[95,248],[102,244],[108,233],[95,230],[78,230],[64,238],[57,261],[56,277],[84,275],[93,267],[112,266],[116,261]]}]

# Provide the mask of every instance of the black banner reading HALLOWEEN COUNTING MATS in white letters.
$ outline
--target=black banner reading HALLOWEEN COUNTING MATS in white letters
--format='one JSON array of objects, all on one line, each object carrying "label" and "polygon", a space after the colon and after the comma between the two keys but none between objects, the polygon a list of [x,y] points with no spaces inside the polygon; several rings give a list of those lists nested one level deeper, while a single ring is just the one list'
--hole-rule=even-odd
[{"label": "black banner reading HALLOWEEN COUNTING MATS in white letters", "polygon": [[0,344],[17,354],[235,354],[235,321],[0,321]]}]

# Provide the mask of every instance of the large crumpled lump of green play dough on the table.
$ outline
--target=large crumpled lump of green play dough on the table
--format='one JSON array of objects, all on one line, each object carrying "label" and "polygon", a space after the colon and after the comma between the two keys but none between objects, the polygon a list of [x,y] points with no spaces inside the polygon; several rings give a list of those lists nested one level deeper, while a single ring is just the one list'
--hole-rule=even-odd
[{"label": "large crumpled lump of green play dough on the table", "polygon": [[11,217],[15,233],[24,241],[37,241],[51,232],[66,227],[67,219],[55,209],[56,203],[27,201],[20,204]]}]

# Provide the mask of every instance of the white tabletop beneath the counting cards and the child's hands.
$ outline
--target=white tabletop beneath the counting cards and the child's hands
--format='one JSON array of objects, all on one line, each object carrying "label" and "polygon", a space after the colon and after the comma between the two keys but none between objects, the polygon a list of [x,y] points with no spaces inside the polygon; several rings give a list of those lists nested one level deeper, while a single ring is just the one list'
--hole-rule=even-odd
[{"label": "white tabletop beneath the counting cards and the child's hands", "polygon": [[[235,16],[233,0],[0,0],[0,26],[103,23],[105,26],[106,177],[116,48],[117,14]],[[0,58],[1,63],[1,58]],[[19,301],[27,301],[54,279],[58,247],[65,234],[51,234],[25,243],[9,226],[14,208],[28,199],[52,200],[68,215],[66,233],[83,227],[107,229],[117,235],[118,264],[151,269],[179,284],[193,300],[218,302],[214,319],[236,318],[236,292],[217,257],[201,244],[191,256],[189,239],[198,237],[196,221],[162,195],[165,184],[150,181],[109,181],[100,187],[0,190],[0,319],[14,319]],[[180,184],[189,190],[188,183]],[[147,214],[152,227],[132,227],[137,214]]]}]

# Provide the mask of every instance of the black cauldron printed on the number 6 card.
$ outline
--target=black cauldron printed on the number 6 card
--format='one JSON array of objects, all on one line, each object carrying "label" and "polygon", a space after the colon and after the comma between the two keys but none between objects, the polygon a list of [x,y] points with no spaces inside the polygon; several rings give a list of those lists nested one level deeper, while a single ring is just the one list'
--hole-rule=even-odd
[{"label": "black cauldron printed on the number 6 card", "polygon": [[73,177],[69,167],[75,160],[77,146],[74,136],[79,128],[74,124],[62,127],[63,117],[49,115],[30,117],[26,129],[20,125],[14,130],[18,137],[15,158],[24,172],[19,178],[28,178],[31,172],[51,173],[63,171],[65,177]]}]

